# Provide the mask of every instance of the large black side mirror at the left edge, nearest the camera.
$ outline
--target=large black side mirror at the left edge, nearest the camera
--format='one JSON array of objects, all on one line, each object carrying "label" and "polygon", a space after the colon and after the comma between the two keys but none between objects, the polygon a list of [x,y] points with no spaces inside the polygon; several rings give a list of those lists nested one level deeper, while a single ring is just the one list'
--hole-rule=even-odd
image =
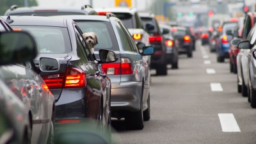
[{"label": "large black side mirror at the left edge, nearest the camera", "polygon": [[37,55],[34,38],[26,31],[0,33],[0,65],[24,63]]}]

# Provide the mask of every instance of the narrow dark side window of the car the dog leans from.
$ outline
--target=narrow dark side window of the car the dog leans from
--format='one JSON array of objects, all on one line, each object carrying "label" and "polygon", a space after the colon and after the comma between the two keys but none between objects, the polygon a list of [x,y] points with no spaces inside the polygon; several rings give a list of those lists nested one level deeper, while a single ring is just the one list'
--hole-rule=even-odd
[{"label": "narrow dark side window of the car the dog leans from", "polygon": [[77,26],[75,26],[76,35],[77,35],[77,46],[79,46],[79,50],[83,52],[83,55],[87,58],[88,61],[94,61],[92,54],[90,54],[90,51],[88,48],[86,48],[86,44],[83,40],[83,36],[81,33],[79,33],[79,29],[77,29]]}]

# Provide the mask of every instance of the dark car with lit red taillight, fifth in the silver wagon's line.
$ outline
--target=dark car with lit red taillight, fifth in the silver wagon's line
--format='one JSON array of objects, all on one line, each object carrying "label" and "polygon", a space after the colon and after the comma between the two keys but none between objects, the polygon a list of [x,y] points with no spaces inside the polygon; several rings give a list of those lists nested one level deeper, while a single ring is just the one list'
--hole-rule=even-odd
[{"label": "dark car with lit red taillight, fifth in the silver wagon's line", "polygon": [[188,58],[193,57],[193,43],[188,35],[186,28],[182,26],[172,27],[171,29],[173,36],[177,41],[175,45],[178,49],[179,54],[186,54]]}]

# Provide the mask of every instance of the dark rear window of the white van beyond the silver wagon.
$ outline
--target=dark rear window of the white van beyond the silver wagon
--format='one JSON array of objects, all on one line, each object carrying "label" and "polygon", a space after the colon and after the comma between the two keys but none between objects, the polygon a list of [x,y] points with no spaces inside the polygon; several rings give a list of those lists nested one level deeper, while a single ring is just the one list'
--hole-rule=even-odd
[{"label": "dark rear window of the white van beyond the silver wagon", "polygon": [[133,24],[132,15],[130,13],[114,13],[118,19],[122,20],[126,28],[136,28]]}]

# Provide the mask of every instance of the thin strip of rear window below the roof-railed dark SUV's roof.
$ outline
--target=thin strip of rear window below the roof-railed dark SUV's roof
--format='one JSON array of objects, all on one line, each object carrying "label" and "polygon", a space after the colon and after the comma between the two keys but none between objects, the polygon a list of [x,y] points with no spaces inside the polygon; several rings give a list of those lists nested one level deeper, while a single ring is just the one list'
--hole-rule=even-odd
[{"label": "thin strip of rear window below the roof-railed dark SUV's roof", "polygon": [[52,16],[52,15],[86,15],[86,13],[77,12],[27,12],[27,13],[10,13],[10,15],[37,15],[37,16]]}]

